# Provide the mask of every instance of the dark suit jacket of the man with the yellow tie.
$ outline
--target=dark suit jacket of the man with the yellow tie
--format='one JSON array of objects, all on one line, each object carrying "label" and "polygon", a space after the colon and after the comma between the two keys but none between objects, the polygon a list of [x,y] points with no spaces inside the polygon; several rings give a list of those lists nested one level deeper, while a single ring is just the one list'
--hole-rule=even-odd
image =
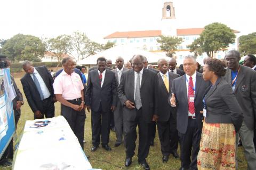
[{"label": "dark suit jacket of the man with the yellow tie", "polygon": [[157,74],[158,77],[158,121],[159,122],[166,122],[170,118],[170,114],[172,113],[174,118],[176,118],[176,111],[177,109],[172,108],[168,103],[169,95],[172,93],[172,81],[174,78],[179,77],[179,75],[169,72],[169,92],[167,91],[163,78],[160,73]]}]

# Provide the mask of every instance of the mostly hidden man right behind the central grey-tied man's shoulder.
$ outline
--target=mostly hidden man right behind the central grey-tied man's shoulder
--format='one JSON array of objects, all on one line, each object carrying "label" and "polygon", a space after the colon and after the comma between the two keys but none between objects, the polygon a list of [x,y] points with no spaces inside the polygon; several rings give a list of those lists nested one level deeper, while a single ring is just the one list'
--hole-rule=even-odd
[{"label": "mostly hidden man right behind the central grey-tied man's shoulder", "polygon": [[[146,56],[144,56],[143,67],[145,69],[149,69],[150,71],[155,72],[156,74],[159,72],[159,70],[148,67],[148,60],[147,60]],[[152,121],[149,124],[149,132],[148,133],[149,133],[149,136],[150,136],[149,137],[149,144],[150,144],[150,146],[153,147],[154,146],[154,140],[155,140],[155,137],[156,137],[156,122]]]}]

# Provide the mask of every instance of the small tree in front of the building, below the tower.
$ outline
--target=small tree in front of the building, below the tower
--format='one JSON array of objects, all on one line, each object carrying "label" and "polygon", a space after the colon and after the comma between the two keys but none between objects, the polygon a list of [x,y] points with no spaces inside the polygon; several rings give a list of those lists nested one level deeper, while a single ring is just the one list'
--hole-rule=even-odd
[{"label": "small tree in front of the building, below the tower", "polygon": [[161,50],[166,52],[166,56],[172,57],[172,54],[175,54],[175,50],[177,50],[178,45],[182,43],[182,38],[178,37],[168,37],[168,36],[160,36],[161,39],[157,39],[157,43],[160,43]]}]

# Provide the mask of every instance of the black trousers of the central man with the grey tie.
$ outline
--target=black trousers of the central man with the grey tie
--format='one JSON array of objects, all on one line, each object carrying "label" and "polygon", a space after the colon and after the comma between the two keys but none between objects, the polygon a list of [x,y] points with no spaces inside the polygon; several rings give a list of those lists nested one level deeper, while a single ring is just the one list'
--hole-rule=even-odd
[{"label": "black trousers of the central man with the grey tie", "polygon": [[139,149],[138,162],[144,163],[149,152],[149,123],[142,117],[142,108],[137,110],[137,116],[134,121],[124,121],[124,143],[126,158],[132,158],[135,154],[135,141],[137,139],[136,127],[139,126]]}]

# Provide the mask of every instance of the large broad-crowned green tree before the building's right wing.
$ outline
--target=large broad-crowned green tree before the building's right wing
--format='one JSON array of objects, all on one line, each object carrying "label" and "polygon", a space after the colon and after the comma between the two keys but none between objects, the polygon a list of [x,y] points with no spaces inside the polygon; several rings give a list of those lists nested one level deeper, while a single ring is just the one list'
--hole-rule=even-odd
[{"label": "large broad-crowned green tree before the building's right wing", "polygon": [[234,43],[235,38],[232,29],[223,23],[214,22],[205,26],[200,37],[187,47],[190,52],[195,52],[195,55],[206,52],[212,58],[215,52],[225,50],[229,44]]}]

